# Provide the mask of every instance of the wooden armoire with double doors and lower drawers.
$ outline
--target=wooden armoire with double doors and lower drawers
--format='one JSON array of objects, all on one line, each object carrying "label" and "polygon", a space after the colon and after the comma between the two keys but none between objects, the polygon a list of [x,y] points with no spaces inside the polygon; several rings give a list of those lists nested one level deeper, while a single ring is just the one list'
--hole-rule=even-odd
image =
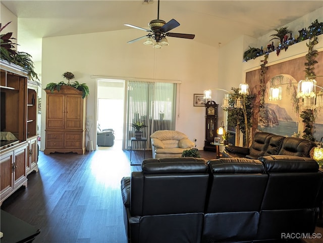
[{"label": "wooden armoire with double doors and lower drawers", "polygon": [[44,154],[84,154],[86,139],[86,98],[65,85],[60,91],[46,91],[46,141]]}]

